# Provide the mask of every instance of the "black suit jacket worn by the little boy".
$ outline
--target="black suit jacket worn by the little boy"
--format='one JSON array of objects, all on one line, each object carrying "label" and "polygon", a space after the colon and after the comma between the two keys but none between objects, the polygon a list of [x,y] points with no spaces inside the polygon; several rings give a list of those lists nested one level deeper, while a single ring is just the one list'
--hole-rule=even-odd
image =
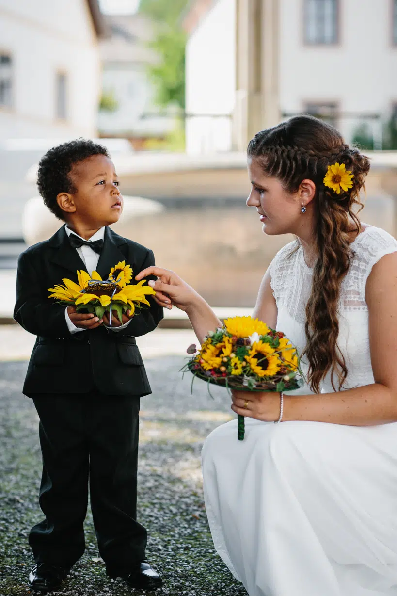
[{"label": "black suit jacket worn by the little boy", "polygon": [[[131,265],[134,276],[154,265],[151,250],[106,228],[98,273],[107,279],[111,267],[120,260]],[[70,334],[66,306],[49,300],[47,288],[61,284],[63,278],[77,281],[77,269],[86,271],[69,244],[64,226],[49,240],[20,254],[14,318],[38,336],[23,393],[33,397],[38,393],[87,393],[96,388],[107,395],[148,395],[150,385],[135,337],[155,329],[163,309],[149,297],[151,308],[137,309],[125,330],[97,327]],[[134,277],[131,283],[135,283]]]}]

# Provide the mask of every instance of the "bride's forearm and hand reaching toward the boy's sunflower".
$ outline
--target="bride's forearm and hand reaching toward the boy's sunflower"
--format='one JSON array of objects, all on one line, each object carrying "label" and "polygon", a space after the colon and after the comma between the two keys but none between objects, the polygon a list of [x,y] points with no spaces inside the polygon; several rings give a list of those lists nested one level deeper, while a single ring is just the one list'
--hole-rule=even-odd
[{"label": "bride's forearm and hand reaching toward the boy's sunflower", "polygon": [[179,275],[169,269],[152,266],[139,272],[135,280],[140,281],[148,275],[156,275],[159,278],[157,281],[148,282],[156,290],[154,300],[157,304],[164,308],[172,308],[173,305],[185,311],[200,343],[208,331],[215,331],[217,327],[222,326],[204,298]]}]

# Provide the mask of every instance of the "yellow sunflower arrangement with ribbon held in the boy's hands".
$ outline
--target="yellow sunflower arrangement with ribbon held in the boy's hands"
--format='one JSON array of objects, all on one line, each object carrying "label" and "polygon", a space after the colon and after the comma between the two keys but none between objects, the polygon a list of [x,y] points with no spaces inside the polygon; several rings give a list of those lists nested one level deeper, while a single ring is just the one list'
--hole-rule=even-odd
[{"label": "yellow sunflower arrangement with ribbon held in the boy's hands", "polygon": [[55,298],[59,304],[75,306],[77,312],[95,313],[100,319],[108,312],[111,325],[113,311],[122,322],[123,313],[129,310],[132,316],[142,305],[150,306],[146,296],[156,294],[153,288],[144,285],[146,280],[130,284],[131,280],[131,266],[122,261],[111,268],[107,280],[102,280],[97,271],[93,271],[91,277],[86,271],[77,271],[77,283],[62,280],[64,285],[48,288],[51,292],[48,298]]}]

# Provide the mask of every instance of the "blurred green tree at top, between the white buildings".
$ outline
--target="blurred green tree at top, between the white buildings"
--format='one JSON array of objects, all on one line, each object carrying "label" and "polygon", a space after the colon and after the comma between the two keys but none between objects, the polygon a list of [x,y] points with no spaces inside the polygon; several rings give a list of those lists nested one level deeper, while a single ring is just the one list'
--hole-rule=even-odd
[{"label": "blurred green tree at top, between the white buildings", "polygon": [[156,38],[149,46],[159,55],[159,63],[148,66],[148,75],[156,89],[155,101],[185,107],[186,34],[181,14],[187,0],[141,0],[139,10],[157,23]]}]

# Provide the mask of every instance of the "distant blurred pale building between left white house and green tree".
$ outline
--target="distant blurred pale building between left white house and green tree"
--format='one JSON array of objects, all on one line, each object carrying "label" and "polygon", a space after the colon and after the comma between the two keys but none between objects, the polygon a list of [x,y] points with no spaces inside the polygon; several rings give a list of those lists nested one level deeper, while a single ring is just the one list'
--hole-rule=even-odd
[{"label": "distant blurred pale building between left white house and green tree", "polygon": [[153,23],[140,13],[104,15],[108,36],[100,44],[102,99],[98,119],[101,136],[128,138],[136,149],[148,139],[162,139],[174,126],[154,105],[147,67],[157,63],[150,48]]}]

